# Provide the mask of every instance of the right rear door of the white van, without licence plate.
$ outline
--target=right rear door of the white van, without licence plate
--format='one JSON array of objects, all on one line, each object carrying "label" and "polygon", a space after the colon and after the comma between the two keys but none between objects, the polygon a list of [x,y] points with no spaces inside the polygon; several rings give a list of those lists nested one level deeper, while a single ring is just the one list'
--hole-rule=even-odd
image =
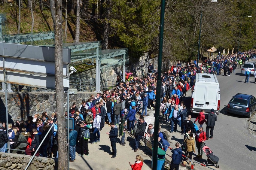
[{"label": "right rear door of the white van, without licence plate", "polygon": [[207,84],[207,91],[205,97],[205,109],[217,110],[218,107],[218,85]]}]

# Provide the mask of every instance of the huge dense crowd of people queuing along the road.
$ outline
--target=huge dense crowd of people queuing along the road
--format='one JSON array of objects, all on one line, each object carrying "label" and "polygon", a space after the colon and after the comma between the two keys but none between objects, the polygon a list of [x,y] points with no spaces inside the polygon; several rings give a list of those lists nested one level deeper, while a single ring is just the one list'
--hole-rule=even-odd
[{"label": "huge dense crowd of people queuing along the road", "polygon": [[[166,71],[161,76],[161,105],[160,112],[162,120],[170,123],[170,133],[177,132],[178,125],[181,127],[180,133],[184,135],[184,142],[187,143],[186,155],[191,159],[192,152],[195,151],[195,143],[198,149],[198,158],[202,157],[201,149],[204,141],[213,138],[213,129],[217,116],[213,111],[209,114],[204,114],[202,110],[196,121],[199,121],[199,130],[195,130],[191,116],[187,115],[187,109],[182,101],[188,90],[192,89],[195,83],[195,74],[202,73],[209,69],[209,73],[221,73],[221,68],[224,69],[224,75],[228,72],[228,76],[234,72],[237,65],[241,67],[241,63],[249,59],[256,58],[256,51],[248,51],[244,53],[229,54],[227,56],[218,55],[215,59],[208,59],[199,65],[197,61],[187,62],[172,65],[169,71]],[[241,62],[242,60],[242,62]],[[228,68],[226,70],[226,67]],[[232,69],[231,69],[232,68]],[[154,110],[154,101],[156,99],[156,83],[157,70],[152,64],[148,66],[148,73],[145,77],[139,78],[135,73],[126,73],[125,81],[117,76],[116,87],[113,90],[105,90],[102,93],[93,94],[89,99],[83,99],[77,106],[73,103],[69,111],[66,111],[66,117],[74,119],[75,128],[70,130],[70,161],[74,162],[76,152],[79,156],[89,156],[88,141],[93,140],[92,144],[100,142],[100,131],[107,124],[111,126],[111,130],[106,134],[109,135],[112,147],[112,158],[116,157],[116,142],[117,137],[121,136],[121,145],[125,146],[125,132],[130,132],[135,135],[135,146],[133,150],[136,152],[139,149],[139,141],[147,132],[151,143],[154,143],[154,128],[150,123],[145,122],[144,118],[148,116],[147,111]],[[142,110],[142,111],[141,111]],[[141,112],[140,112],[141,111]],[[139,120],[136,121],[136,114],[139,114]],[[206,123],[206,132],[203,131],[203,123]],[[53,125],[51,132],[46,136]],[[148,125],[148,129],[146,127]],[[209,134],[209,129],[210,134]],[[8,136],[5,131],[8,130]],[[165,135],[158,129],[158,141],[163,141]],[[92,134],[92,135],[90,135]],[[6,136],[5,136],[6,135]],[[15,124],[0,123],[0,151],[4,152],[6,142],[11,141],[11,148],[24,151],[11,150],[12,153],[31,155],[35,153],[39,144],[44,137],[45,140],[36,153],[37,156],[58,157],[57,150],[57,115],[43,112],[41,115],[35,114],[34,117],[29,116],[27,121],[16,121]],[[91,136],[91,138],[90,138]],[[13,142],[12,142],[13,141]],[[80,150],[76,150],[76,146],[80,146]],[[176,143],[175,158],[180,159],[180,147]],[[137,164],[143,164],[143,159],[140,156],[136,157]],[[177,167],[173,159],[171,169]],[[186,163],[186,161],[184,161]],[[190,162],[191,163],[191,162]],[[131,166],[135,166],[131,164]],[[139,166],[139,165],[136,165]]]}]

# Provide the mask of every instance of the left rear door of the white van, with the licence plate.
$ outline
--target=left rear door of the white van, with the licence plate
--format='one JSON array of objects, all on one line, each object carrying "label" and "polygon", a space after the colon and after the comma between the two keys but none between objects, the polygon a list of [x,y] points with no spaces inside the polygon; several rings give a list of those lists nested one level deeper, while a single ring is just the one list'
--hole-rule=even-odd
[{"label": "left rear door of the white van, with the licence plate", "polygon": [[202,83],[196,83],[194,89],[195,89],[195,95],[194,95],[194,103],[193,108],[205,108],[205,93],[206,93],[206,84]]}]

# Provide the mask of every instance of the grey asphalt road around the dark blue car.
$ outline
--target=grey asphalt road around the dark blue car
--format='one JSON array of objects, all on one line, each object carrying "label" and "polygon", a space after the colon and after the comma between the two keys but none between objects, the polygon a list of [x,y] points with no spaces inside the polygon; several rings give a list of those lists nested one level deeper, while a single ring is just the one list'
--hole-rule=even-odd
[{"label": "grey asphalt road around the dark blue car", "polygon": [[[229,77],[217,76],[221,90],[221,113],[217,116],[213,139],[206,141],[206,145],[219,157],[219,169],[223,170],[256,168],[256,138],[248,131],[248,118],[230,115],[226,111],[227,103],[236,93],[256,96],[254,77],[251,76],[246,84],[240,71],[241,69],[236,69],[235,74]],[[256,117],[255,112],[252,117]]]}]

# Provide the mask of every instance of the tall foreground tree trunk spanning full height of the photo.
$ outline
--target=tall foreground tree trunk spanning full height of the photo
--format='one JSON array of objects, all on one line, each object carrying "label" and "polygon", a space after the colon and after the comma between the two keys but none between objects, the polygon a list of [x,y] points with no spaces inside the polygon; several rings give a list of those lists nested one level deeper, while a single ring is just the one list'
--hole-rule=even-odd
[{"label": "tall foreground tree trunk spanning full height of the photo", "polygon": [[63,88],[63,59],[62,59],[62,1],[50,0],[50,7],[53,12],[54,35],[55,35],[55,89],[56,89],[56,111],[58,116],[58,169],[68,169],[67,164],[67,137],[65,125],[65,111],[63,107],[64,88]]}]

